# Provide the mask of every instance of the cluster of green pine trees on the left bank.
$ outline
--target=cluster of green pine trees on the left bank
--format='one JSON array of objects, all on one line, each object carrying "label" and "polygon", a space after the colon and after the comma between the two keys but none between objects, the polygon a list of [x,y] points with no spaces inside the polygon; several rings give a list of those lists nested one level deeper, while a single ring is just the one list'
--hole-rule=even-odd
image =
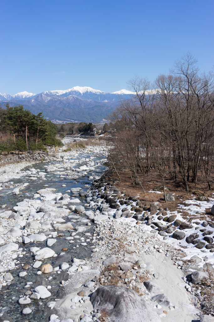
[{"label": "cluster of green pine trees on the left bank", "polygon": [[61,146],[61,140],[55,136],[57,126],[47,121],[42,112],[37,115],[25,110],[22,105],[0,110],[0,150],[36,150],[44,144]]}]

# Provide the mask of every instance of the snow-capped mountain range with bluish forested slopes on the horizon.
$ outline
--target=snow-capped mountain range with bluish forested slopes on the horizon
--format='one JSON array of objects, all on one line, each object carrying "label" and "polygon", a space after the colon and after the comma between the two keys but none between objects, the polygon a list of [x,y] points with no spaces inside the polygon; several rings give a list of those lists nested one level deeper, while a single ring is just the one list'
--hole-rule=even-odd
[{"label": "snow-capped mountain range with bluish forested slopes on the horizon", "polygon": [[15,95],[1,94],[0,105],[23,105],[32,113],[43,112],[53,122],[102,122],[119,104],[134,92],[120,90],[106,93],[91,87],[73,87],[68,90],[50,90],[39,94],[26,91]]}]

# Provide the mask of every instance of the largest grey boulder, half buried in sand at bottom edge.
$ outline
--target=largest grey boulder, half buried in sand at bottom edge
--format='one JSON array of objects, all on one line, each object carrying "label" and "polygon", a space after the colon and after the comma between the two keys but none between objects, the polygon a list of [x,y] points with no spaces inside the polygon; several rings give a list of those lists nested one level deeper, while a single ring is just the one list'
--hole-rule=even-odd
[{"label": "largest grey boulder, half buried in sand at bottom edge", "polygon": [[132,289],[101,286],[91,296],[94,310],[107,314],[116,322],[160,322],[155,310]]}]

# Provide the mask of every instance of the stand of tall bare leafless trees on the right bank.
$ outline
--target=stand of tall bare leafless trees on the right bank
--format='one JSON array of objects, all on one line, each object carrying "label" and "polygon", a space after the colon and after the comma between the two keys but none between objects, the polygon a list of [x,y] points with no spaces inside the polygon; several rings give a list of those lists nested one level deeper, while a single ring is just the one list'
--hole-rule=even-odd
[{"label": "stand of tall bare leafless trees on the right bank", "polygon": [[154,83],[138,77],[129,81],[136,95],[121,101],[110,120],[116,136],[111,138],[111,158],[117,169],[125,164],[132,182],[151,167],[177,181],[185,189],[198,182],[199,173],[211,189],[214,170],[214,78],[199,73],[197,60],[185,55],[168,75]]}]

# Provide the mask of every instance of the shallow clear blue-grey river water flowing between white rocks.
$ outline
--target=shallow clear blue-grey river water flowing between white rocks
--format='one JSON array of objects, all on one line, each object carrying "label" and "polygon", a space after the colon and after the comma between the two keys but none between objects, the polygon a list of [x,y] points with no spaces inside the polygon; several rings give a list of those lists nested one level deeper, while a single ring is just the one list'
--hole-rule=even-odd
[{"label": "shallow clear blue-grey river water flowing between white rocks", "polygon": [[[92,153],[88,154],[81,154],[79,158],[90,158],[93,156]],[[72,157],[74,159],[74,157]],[[60,178],[59,175],[56,174],[48,174],[45,176],[45,180],[42,178],[38,178],[36,181],[31,182],[29,180],[29,176],[21,177],[20,179],[13,179],[13,184],[15,185],[23,185],[24,183],[29,183],[23,190],[20,190],[19,195],[15,195],[12,193],[14,188],[8,188],[1,191],[1,205],[7,204],[4,210],[8,208],[13,208],[17,202],[22,201],[24,198],[32,198],[33,194],[39,190],[44,188],[44,185],[48,185],[48,188],[55,188],[56,193],[61,192],[62,194],[66,194],[67,190],[75,187],[82,187],[83,190],[87,190],[89,186],[92,185],[93,179],[90,179],[90,176],[99,176],[103,173],[105,167],[102,165],[103,156],[95,156],[93,161],[95,163],[95,170],[87,173],[87,175],[81,176],[78,179],[68,179],[68,178]],[[69,158],[68,158],[69,160]],[[40,169],[42,172],[45,172],[44,166],[49,166],[56,164],[56,162],[41,162],[32,165],[24,170],[29,168]],[[83,162],[84,164],[84,162]],[[62,163],[62,167],[66,167],[66,162]],[[81,164],[78,164],[81,166]],[[66,187],[62,187],[62,184],[66,185]],[[69,194],[69,193],[67,193]],[[69,194],[72,196],[72,194]],[[76,196],[81,200],[81,205],[86,203],[85,197]],[[85,209],[87,206],[85,206]],[[87,210],[87,209],[86,209]],[[90,210],[94,210],[90,208]],[[71,214],[71,213],[70,213]],[[76,214],[75,214],[76,215]],[[76,225],[85,225],[85,220],[87,218],[84,214],[79,215],[80,218],[76,219],[69,219],[68,217],[63,217],[66,222],[71,222],[73,227]],[[82,222],[83,221],[83,222]],[[15,223],[15,221],[14,221]],[[77,233],[79,238],[74,238],[73,243],[69,243],[69,240],[66,240],[66,237],[71,235],[71,232],[64,231],[61,232],[64,234],[62,237],[56,237],[57,242],[51,246],[51,249],[55,251],[55,253],[60,254],[63,248],[67,248],[68,251],[64,251],[64,254],[58,255],[57,257],[52,257],[47,260],[43,260],[42,264],[50,263],[53,268],[59,266],[62,262],[67,262],[71,264],[71,260],[75,257],[78,259],[89,259],[92,249],[88,246],[89,242],[86,242],[86,246],[80,246],[80,239],[81,237],[89,238],[93,236],[94,232],[94,225],[91,223],[91,226],[87,226],[87,237],[85,232]],[[46,235],[49,232],[44,232]],[[62,234],[62,235],[63,235]],[[91,234],[91,235],[89,235]],[[84,240],[85,242],[85,240]],[[11,270],[10,272],[13,275],[13,280],[10,285],[3,287],[0,291],[0,321],[9,320],[10,322],[18,322],[18,321],[32,321],[32,322],[39,322],[39,321],[48,321],[48,317],[51,314],[50,309],[47,307],[47,303],[50,301],[54,301],[56,298],[61,298],[63,294],[61,294],[59,284],[61,281],[65,281],[69,278],[69,275],[66,272],[58,271],[51,274],[42,274],[37,275],[38,269],[32,268],[30,265],[33,263],[32,253],[30,251],[31,247],[46,247],[45,242],[31,242],[29,244],[19,244],[19,251],[22,252],[21,257],[18,255],[16,258],[17,262],[16,265],[18,268]],[[23,272],[22,266],[24,264],[29,264],[28,270],[26,270],[27,275],[24,278],[18,277],[20,272]],[[27,282],[32,282],[32,286],[29,288],[26,287]],[[46,299],[39,299],[39,300],[31,300],[31,303],[27,305],[27,307],[31,308],[32,313],[29,316],[23,316],[22,310],[25,306],[20,305],[18,303],[18,299],[20,296],[29,295],[32,289],[36,286],[43,285],[45,287],[51,286],[51,297]],[[26,293],[27,292],[27,293]]]}]

